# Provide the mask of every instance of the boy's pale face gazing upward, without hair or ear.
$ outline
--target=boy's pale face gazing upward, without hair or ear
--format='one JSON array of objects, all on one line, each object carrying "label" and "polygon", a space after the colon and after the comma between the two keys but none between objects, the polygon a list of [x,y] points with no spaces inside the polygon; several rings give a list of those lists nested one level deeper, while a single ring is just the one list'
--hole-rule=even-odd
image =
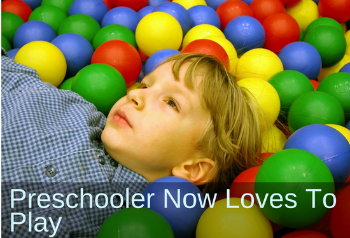
[{"label": "boy's pale face gazing upward, without hair or ear", "polygon": [[[210,118],[197,88],[190,90],[184,84],[188,63],[181,67],[180,81],[171,65],[159,66],[139,89],[121,98],[102,133],[109,155],[148,181],[171,176],[176,165],[202,157],[196,145]],[[198,84],[201,77],[195,80]]]}]

